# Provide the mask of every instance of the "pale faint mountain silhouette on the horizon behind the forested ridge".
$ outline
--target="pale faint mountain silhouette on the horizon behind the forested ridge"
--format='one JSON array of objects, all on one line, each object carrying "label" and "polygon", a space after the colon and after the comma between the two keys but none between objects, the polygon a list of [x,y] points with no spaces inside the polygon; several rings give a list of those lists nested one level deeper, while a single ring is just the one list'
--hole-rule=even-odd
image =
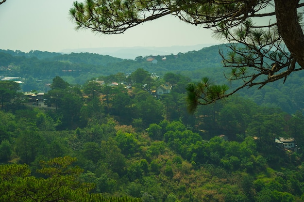
[{"label": "pale faint mountain silhouette on the horizon behind the forested ridge", "polygon": [[203,47],[210,47],[215,44],[199,44],[195,46],[172,46],[172,47],[100,47],[100,48],[77,48],[64,49],[61,53],[97,53],[101,55],[109,55],[121,59],[134,60],[138,56],[150,55],[170,55],[178,53],[186,53],[188,51],[201,50]]}]

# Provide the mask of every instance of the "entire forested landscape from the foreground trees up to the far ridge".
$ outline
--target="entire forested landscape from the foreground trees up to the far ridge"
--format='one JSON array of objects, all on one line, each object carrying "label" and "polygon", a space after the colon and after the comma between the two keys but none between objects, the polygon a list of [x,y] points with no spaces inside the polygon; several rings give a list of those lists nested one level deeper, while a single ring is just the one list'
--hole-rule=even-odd
[{"label": "entire forested landscape from the foreground trees up to the far ridge", "polygon": [[[224,48],[135,60],[1,50],[0,75],[22,84],[0,81],[0,201],[303,202],[303,73],[187,112],[189,82],[225,82]],[[172,91],[154,96],[164,83]]]}]

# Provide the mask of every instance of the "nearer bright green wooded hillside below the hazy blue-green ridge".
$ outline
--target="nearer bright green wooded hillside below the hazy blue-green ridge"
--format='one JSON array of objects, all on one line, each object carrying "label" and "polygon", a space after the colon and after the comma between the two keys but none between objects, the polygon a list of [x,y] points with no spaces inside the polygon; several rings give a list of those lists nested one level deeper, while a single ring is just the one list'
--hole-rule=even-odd
[{"label": "nearer bright green wooded hillside below the hazy blue-green ridge", "polygon": [[302,147],[302,112],[234,96],[189,115],[178,87],[188,78],[164,79],[177,92],[159,99],[134,81],[128,89],[55,77],[46,94],[52,107],[4,103],[1,201],[304,201],[302,149],[274,143],[294,137]]}]

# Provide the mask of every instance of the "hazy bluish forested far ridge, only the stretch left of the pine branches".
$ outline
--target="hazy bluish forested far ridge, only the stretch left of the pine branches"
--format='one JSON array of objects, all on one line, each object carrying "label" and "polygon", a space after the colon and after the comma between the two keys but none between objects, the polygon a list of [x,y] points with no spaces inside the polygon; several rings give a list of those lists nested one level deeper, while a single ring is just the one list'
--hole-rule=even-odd
[{"label": "hazy bluish forested far ridge, only the stretch left of the pine branches", "polygon": [[[137,68],[143,68],[149,72],[162,75],[168,71],[185,73],[194,79],[197,73],[188,71],[201,70],[204,67],[219,67],[219,46],[206,47],[199,51],[179,53],[177,55],[151,56],[153,62],[147,61],[150,56],[138,56],[135,60],[123,60],[108,55],[93,53],[71,53],[60,54],[42,51],[0,50],[0,75],[19,76],[29,78],[53,78],[54,76],[80,77],[75,79],[76,83],[83,81],[84,77],[108,76],[111,74],[131,73]],[[166,61],[162,60],[166,58]],[[10,68],[8,66],[18,67]],[[73,70],[67,74],[65,70]],[[190,74],[190,75],[189,75]]]}]

